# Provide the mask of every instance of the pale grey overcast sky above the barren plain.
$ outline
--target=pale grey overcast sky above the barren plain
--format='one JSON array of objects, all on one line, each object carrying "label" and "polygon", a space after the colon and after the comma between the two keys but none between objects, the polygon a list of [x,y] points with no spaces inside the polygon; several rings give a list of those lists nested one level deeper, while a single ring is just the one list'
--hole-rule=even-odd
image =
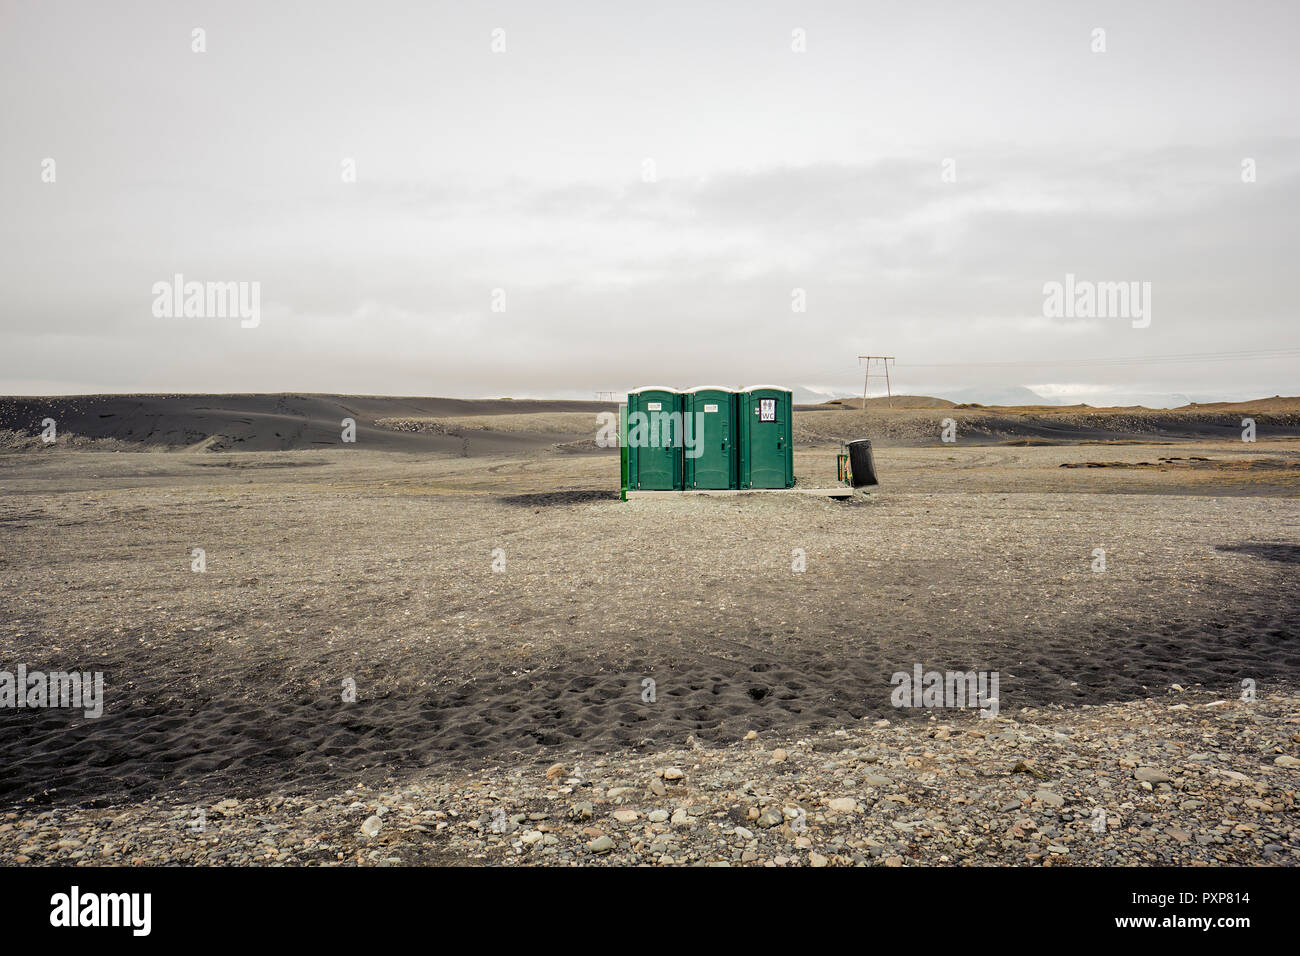
[{"label": "pale grey overcast sky above the barren plain", "polygon": [[[870,352],[1296,394],[1296,351],[1165,356],[1300,349],[1297,49],[1291,1],[0,0],[0,393],[853,392]],[[177,273],[260,324],[155,316]],[[1067,273],[1149,325],[1045,316]]]}]

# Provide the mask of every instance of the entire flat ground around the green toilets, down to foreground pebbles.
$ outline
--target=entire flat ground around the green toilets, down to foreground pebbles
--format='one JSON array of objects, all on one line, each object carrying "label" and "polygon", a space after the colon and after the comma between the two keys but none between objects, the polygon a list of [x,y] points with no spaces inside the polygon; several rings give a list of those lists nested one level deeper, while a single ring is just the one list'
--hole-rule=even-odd
[{"label": "entire flat ground around the green toilets, down to foreground pebbles", "polygon": [[[837,503],[619,502],[607,455],[0,455],[0,667],[107,697],[0,711],[0,860],[1295,862],[1300,514],[1225,477],[1256,459],[1295,451],[885,447]],[[894,709],[914,663],[998,672],[1000,717]]]}]

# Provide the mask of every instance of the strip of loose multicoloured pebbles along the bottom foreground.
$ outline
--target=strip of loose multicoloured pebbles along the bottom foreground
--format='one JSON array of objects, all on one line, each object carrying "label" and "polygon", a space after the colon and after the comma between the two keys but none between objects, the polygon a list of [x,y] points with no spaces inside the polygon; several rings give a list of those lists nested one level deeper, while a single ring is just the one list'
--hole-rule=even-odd
[{"label": "strip of loose multicoloured pebbles along the bottom foreground", "polygon": [[1297,705],[1170,688],[317,797],[10,812],[0,864],[1294,866]]}]

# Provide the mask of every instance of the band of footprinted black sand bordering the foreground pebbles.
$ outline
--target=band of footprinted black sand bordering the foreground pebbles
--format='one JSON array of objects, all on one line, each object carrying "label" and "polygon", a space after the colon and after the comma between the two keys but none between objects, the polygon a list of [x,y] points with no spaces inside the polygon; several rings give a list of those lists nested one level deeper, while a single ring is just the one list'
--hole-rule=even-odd
[{"label": "band of footprinted black sand bordering the foreground pebbles", "polygon": [[[1294,680],[1300,674],[1294,611],[1182,623],[1143,639],[1121,622],[1109,631],[1080,631],[1076,641],[1044,635],[1041,645],[1017,649],[1024,659],[1014,674],[1001,671],[1001,697],[1018,706],[1100,702],[1144,697],[1148,688],[1173,683],[1221,687],[1232,697],[1231,684],[1243,674],[1265,685]],[[930,711],[888,705],[894,666],[910,671],[907,659],[923,658],[927,667],[952,662],[997,670],[1006,653],[967,665],[971,654],[959,643],[850,648],[833,635],[805,656],[750,649],[764,643],[759,632],[728,641],[744,646],[736,652],[744,659],[703,648],[630,662],[575,654],[528,676],[485,675],[348,706],[300,691],[295,696],[295,688],[274,679],[244,684],[248,696],[209,696],[216,688],[207,687],[182,696],[166,678],[173,667],[183,670],[183,662],[157,656],[143,674],[109,654],[103,667],[113,708],[104,718],[69,721],[51,711],[0,717],[6,767],[0,801],[98,804],[172,788],[209,799],[292,792],[364,779],[376,769],[372,778],[516,754],[547,762],[554,748],[654,749],[688,735],[729,743],[749,730],[826,730],[864,717],[920,719]],[[1117,656],[1124,663],[1114,665]],[[442,663],[434,654],[404,661],[430,674]],[[127,674],[138,676],[130,679],[130,702],[120,702],[117,688]],[[658,684],[653,704],[641,698],[647,676]]]}]

